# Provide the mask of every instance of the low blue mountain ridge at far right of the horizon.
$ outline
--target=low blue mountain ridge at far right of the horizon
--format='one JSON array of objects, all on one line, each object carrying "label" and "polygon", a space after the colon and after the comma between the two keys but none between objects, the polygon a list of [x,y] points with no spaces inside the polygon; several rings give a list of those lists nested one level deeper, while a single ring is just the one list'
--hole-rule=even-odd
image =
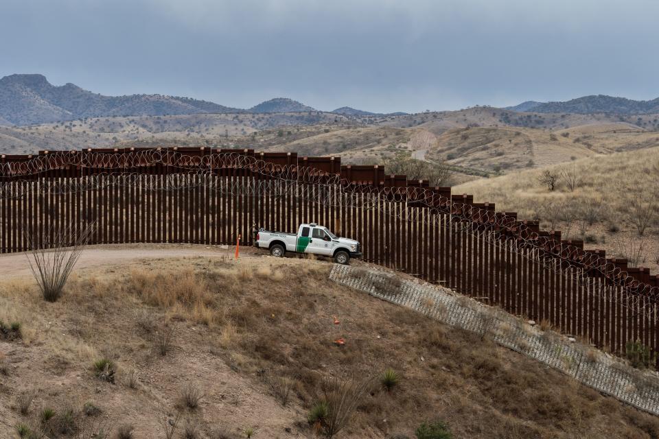
[{"label": "low blue mountain ridge at far right of the horizon", "polygon": [[578,97],[566,102],[522,102],[514,111],[532,112],[569,112],[581,115],[594,113],[612,113],[617,115],[650,115],[659,113],[659,97],[651,101],[634,101],[625,97],[591,95]]}]

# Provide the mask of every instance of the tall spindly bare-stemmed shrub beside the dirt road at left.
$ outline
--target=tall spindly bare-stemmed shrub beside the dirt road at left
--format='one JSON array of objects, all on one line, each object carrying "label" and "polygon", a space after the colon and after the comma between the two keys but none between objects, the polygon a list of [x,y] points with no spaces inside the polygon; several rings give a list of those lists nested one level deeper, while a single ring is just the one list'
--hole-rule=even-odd
[{"label": "tall spindly bare-stemmed shrub beside the dirt road at left", "polygon": [[24,230],[30,247],[30,252],[25,256],[45,300],[55,302],[62,296],[71,270],[95,228],[95,223],[85,224],[79,229],[75,226],[51,226],[44,235],[34,230]]}]

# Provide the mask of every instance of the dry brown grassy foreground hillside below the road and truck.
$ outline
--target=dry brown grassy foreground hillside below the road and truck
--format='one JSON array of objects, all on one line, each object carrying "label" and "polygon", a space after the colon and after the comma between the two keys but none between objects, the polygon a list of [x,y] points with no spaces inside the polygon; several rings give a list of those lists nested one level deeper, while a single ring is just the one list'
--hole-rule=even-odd
[{"label": "dry brown grassy foreground hillside below the road and truck", "polygon": [[[41,423],[52,408],[47,425],[130,424],[137,438],[164,437],[161,420],[179,411],[180,433],[189,424],[199,438],[245,437],[248,427],[255,438],[311,438],[307,414],[324,379],[388,367],[398,384],[390,392],[374,385],[337,437],[412,437],[419,423],[437,418],[454,438],[659,435],[656,417],[487,338],[338,287],[327,280],[330,267],[270,257],[236,262],[228,252],[226,259],[97,264],[55,303],[43,302],[29,279],[5,278],[0,318],[21,322],[22,340],[0,338],[1,436],[12,437],[18,423]],[[172,343],[161,355],[164,335]],[[338,337],[345,346],[334,344]],[[100,359],[112,361],[114,384],[97,377]],[[31,391],[21,414],[21,395]],[[182,398],[194,392],[198,406],[187,407]],[[85,404],[89,416],[81,414]]]}]

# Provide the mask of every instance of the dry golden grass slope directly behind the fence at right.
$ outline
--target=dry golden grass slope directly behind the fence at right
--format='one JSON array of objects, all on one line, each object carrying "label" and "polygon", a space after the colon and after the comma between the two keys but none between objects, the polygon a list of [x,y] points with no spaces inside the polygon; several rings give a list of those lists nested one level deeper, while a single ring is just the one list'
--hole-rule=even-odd
[{"label": "dry golden grass slope directly behind the fence at right", "polygon": [[[554,191],[541,181],[546,171],[557,176]],[[497,210],[584,239],[587,248],[659,271],[659,147],[474,180],[454,193],[472,193],[477,202],[494,202]]]}]

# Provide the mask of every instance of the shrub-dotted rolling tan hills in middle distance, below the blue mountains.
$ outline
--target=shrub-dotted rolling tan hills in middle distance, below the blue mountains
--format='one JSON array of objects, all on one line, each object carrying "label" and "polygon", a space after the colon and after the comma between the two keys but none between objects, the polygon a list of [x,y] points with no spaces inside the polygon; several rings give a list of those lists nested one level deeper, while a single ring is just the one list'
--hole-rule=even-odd
[{"label": "shrub-dotted rolling tan hills in middle distance, below the blue mountains", "polygon": [[405,153],[421,160],[446,161],[454,169],[453,182],[459,183],[474,176],[659,146],[659,132],[654,131],[654,119],[649,116],[630,121],[612,115],[527,116],[496,108],[470,108],[364,117],[325,112],[104,117],[0,126],[0,152],[211,146],[341,156],[343,163],[381,163]]}]

